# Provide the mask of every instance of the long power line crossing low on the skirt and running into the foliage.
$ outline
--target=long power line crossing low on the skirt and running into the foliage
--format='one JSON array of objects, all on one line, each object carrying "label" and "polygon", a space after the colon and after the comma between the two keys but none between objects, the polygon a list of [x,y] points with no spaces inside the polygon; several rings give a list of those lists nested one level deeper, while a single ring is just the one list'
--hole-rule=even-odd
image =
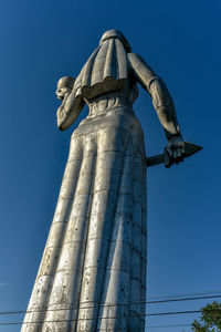
[{"label": "long power line crossing low on the skirt and running into the foliage", "polygon": [[[221,311],[220,309],[210,309],[209,311]],[[110,319],[127,319],[127,318],[141,318],[141,317],[159,317],[159,315],[173,315],[173,314],[193,314],[201,313],[202,310],[188,310],[188,311],[169,311],[169,312],[154,312],[154,313],[144,313],[136,315],[115,315],[115,317],[98,317],[98,318],[77,318],[70,320],[53,320],[53,321],[39,321],[39,322],[7,322],[0,323],[0,326],[6,325],[21,325],[21,324],[42,324],[42,323],[62,323],[62,322],[76,322],[76,321],[93,321],[93,320],[110,320]]]}]

